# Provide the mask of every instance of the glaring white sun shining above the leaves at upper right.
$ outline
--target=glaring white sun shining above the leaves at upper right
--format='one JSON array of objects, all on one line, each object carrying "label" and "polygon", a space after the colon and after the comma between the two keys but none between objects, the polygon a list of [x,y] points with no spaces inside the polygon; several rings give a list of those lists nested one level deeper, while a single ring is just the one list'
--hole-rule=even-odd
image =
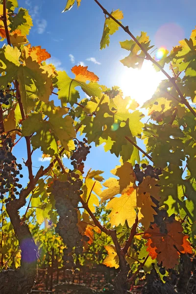
[{"label": "glaring white sun shining above the leaves at upper right", "polygon": [[124,67],[119,75],[118,86],[123,91],[123,96],[130,96],[140,106],[150,99],[165,75],[156,72],[150,61],[145,60],[141,70]]}]

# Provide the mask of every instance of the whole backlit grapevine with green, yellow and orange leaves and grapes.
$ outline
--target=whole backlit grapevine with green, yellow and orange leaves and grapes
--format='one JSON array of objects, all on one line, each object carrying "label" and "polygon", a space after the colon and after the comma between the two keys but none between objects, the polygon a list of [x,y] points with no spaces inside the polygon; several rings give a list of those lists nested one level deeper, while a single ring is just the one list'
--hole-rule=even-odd
[{"label": "whole backlit grapevine with green, yellow and orange leaves and grapes", "polygon": [[[64,12],[74,4],[84,5],[83,13],[88,7],[84,0],[65,2]],[[118,40],[129,51],[123,66],[140,73],[149,62],[165,79],[139,105],[135,97],[123,95],[124,89],[100,84],[87,66],[73,66],[69,76],[50,64],[46,49],[27,40],[30,10],[18,9],[17,0],[0,0],[0,294],[31,292],[42,263],[38,247],[45,242],[47,248],[43,223],[49,248],[54,252],[53,244],[61,244],[60,263],[72,273],[81,255],[97,250],[102,234],[104,260],[98,260],[117,270],[114,294],[126,294],[138,276],[146,279],[144,293],[163,287],[167,293],[193,294],[196,29],[171,52],[156,49],[146,32],[134,36],[123,25],[123,11],[110,13],[99,0],[93,3],[103,21],[100,49],[123,29],[129,38]],[[93,57],[87,60],[100,64]],[[118,161],[107,179],[102,176],[107,168],[94,170],[91,163],[86,171],[91,146],[102,146]],[[23,153],[24,176],[17,148]],[[36,152],[41,161],[34,164]],[[42,158],[49,163],[40,165]],[[98,212],[101,205],[105,214]],[[149,276],[156,282],[149,284]]]}]

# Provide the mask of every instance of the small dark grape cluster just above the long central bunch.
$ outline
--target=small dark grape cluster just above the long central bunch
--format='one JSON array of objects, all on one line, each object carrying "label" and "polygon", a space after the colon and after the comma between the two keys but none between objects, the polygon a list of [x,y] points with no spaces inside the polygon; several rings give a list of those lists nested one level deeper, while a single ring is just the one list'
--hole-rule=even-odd
[{"label": "small dark grape cluster just above the long central bunch", "polygon": [[84,169],[83,161],[86,160],[87,154],[90,153],[91,146],[87,146],[88,141],[84,138],[83,142],[74,140],[75,150],[71,156],[71,165],[75,170],[80,171],[82,174]]}]

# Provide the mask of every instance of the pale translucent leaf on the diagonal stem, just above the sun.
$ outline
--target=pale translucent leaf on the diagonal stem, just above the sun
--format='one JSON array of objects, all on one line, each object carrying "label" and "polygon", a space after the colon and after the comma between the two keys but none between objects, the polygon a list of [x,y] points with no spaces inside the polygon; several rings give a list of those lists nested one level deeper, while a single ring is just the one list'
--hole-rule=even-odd
[{"label": "pale translucent leaf on the diagonal stem, just above the sun", "polygon": [[[143,48],[146,49],[146,51],[154,47],[154,46],[149,46],[150,41],[146,32],[141,32],[141,35],[137,36],[136,39],[138,40],[138,42],[140,42]],[[120,45],[121,45],[121,48],[131,51],[131,53],[127,57],[121,60],[123,65],[127,66],[128,68],[132,67],[133,69],[141,69],[146,54],[143,51],[141,51],[138,44],[136,44],[135,41],[133,40],[130,40],[130,41],[126,40],[126,41],[120,42]],[[139,51],[141,52],[138,54]]]}]

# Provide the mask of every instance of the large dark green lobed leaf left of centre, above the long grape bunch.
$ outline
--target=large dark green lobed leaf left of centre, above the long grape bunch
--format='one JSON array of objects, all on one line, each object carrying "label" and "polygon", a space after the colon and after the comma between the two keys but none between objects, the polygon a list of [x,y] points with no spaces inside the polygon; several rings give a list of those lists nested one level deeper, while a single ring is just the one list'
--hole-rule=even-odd
[{"label": "large dark green lobed leaf left of centre, above the long grape bunch", "polygon": [[[60,140],[69,155],[70,150],[74,149],[72,138],[75,137],[75,130],[73,119],[67,114],[67,108],[56,107],[53,101],[44,104],[42,112],[34,111],[23,122],[22,136],[30,136],[36,132],[31,138],[33,149],[41,147],[42,151],[50,156],[58,155]],[[49,117],[48,121],[43,120],[45,115]]]}]

